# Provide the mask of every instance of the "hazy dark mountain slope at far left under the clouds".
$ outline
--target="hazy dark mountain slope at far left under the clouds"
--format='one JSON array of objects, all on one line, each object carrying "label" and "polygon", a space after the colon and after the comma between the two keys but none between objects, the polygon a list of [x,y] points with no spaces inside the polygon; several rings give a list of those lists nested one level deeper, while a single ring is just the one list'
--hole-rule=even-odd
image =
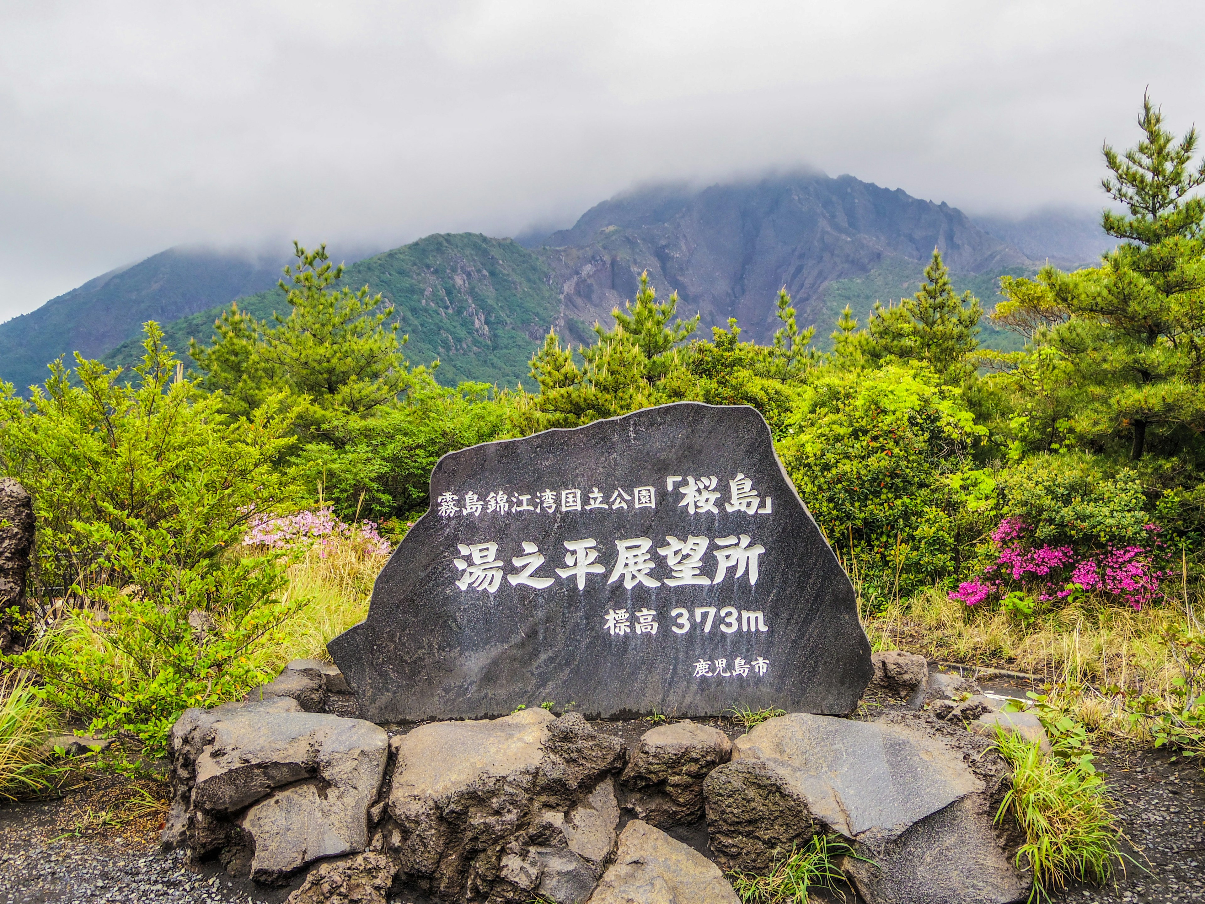
[{"label": "hazy dark mountain slope at far left under the clouds", "polygon": [[142,323],[169,323],[214,304],[260,292],[281,276],[283,259],[205,248],[169,248],[110,270],[30,313],[0,323],[0,380],[23,389],[47,377],[46,365],[72,352],[99,358]]}]

